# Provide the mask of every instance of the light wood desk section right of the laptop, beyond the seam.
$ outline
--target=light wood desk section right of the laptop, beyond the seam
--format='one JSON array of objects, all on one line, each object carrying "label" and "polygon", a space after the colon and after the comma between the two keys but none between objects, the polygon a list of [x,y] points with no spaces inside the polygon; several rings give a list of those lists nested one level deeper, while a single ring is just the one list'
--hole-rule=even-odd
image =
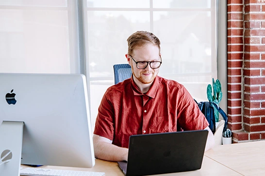
[{"label": "light wood desk section right of the laptop, beyond the seam", "polygon": [[205,156],[244,176],[265,175],[265,141],[216,146]]}]

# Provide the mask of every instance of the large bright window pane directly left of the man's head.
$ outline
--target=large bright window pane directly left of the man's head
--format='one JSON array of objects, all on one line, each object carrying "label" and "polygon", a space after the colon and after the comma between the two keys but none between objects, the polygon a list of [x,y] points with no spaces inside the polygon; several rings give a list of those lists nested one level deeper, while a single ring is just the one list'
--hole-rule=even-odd
[{"label": "large bright window pane directly left of the man's head", "polygon": [[112,76],[113,64],[127,63],[127,38],[150,30],[149,12],[88,11],[90,77]]}]

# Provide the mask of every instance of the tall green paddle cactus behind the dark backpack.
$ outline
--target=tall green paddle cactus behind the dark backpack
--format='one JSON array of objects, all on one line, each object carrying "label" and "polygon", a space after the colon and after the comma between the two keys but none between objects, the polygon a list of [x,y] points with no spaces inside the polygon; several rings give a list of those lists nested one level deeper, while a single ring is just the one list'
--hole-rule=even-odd
[{"label": "tall green paddle cactus behind the dark backpack", "polygon": [[[213,90],[212,91],[212,86],[210,84],[208,84],[207,86],[207,98],[209,100],[209,102],[214,102],[215,104],[217,104],[219,106],[219,103],[222,100],[222,89],[221,89],[221,83],[218,79],[213,78]],[[214,107],[215,108],[215,107]],[[215,122],[219,121],[219,113],[218,110],[215,108]]]}]

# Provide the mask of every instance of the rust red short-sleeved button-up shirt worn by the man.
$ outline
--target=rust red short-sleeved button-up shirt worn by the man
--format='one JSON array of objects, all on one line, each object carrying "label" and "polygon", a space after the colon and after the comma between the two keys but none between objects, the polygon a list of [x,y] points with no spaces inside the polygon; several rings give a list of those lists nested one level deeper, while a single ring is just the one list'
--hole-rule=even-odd
[{"label": "rust red short-sleeved button-up shirt worn by the man", "polygon": [[[133,134],[203,130],[209,125],[181,84],[156,76],[147,93],[133,79],[107,89],[99,105],[94,133],[119,147],[129,147]],[[179,129],[179,128],[178,128]]]}]

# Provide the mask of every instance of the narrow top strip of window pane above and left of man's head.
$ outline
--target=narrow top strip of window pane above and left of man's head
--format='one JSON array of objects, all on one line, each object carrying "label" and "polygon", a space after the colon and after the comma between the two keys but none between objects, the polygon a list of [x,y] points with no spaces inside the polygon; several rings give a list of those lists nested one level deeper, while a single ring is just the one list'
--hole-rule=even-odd
[{"label": "narrow top strip of window pane above and left of man's head", "polygon": [[87,7],[149,8],[149,0],[87,0]]}]

